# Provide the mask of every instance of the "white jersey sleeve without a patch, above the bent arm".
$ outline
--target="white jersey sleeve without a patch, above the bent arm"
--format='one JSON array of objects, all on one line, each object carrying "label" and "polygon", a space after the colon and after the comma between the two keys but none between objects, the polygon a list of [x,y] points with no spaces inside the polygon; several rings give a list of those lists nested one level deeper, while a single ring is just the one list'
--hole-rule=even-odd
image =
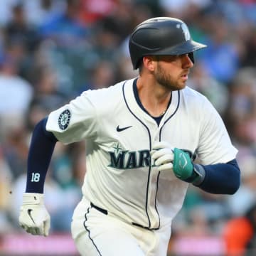
[{"label": "white jersey sleeve without a patch, above the bent arm", "polygon": [[202,164],[227,163],[235,159],[238,149],[233,146],[220,114],[206,99],[202,107],[201,135],[197,154]]}]

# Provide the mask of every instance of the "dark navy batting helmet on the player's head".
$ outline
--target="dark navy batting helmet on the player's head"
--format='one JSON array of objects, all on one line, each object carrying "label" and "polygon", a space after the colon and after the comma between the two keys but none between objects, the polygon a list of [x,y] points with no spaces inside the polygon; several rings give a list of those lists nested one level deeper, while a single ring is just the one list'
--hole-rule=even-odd
[{"label": "dark navy batting helmet on the player's head", "polygon": [[[181,55],[205,48],[192,40],[186,23],[178,18],[149,18],[140,23],[129,38],[129,53],[134,69],[146,55]],[[193,59],[192,59],[193,60]]]}]

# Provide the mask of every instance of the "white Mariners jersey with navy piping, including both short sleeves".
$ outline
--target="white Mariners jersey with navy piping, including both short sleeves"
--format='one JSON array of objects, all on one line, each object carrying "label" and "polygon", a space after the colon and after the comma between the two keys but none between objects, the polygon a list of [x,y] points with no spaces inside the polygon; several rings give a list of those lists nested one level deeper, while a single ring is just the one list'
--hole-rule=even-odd
[{"label": "white Mariners jersey with navy piping, including both short sleeves", "polygon": [[157,171],[149,154],[154,142],[196,152],[202,164],[226,163],[237,149],[200,93],[189,87],[172,92],[158,126],[139,107],[133,82],[83,92],[51,112],[46,129],[64,144],[86,140],[82,193],[88,201],[127,223],[157,229],[178,213],[188,183],[171,171]]}]

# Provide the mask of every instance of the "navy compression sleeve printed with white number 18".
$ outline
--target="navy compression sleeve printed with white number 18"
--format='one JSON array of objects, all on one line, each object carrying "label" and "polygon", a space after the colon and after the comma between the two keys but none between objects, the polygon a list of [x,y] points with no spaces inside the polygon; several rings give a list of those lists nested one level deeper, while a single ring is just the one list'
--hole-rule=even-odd
[{"label": "navy compression sleeve printed with white number 18", "polygon": [[46,131],[47,117],[36,124],[28,151],[28,171],[26,192],[43,193],[46,172],[57,139],[52,132]]}]

